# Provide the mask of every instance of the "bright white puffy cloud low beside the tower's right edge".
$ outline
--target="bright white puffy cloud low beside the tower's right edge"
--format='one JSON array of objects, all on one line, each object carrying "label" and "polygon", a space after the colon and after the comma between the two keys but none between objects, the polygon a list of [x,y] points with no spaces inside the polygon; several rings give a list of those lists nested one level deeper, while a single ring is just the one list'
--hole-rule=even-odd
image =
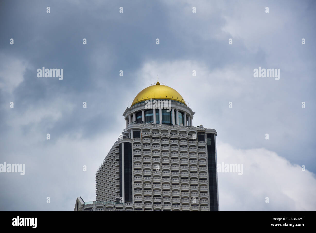
[{"label": "bright white puffy cloud low beside the tower's right edge", "polygon": [[221,211],[316,210],[315,174],[301,165],[264,148],[240,150],[217,142],[217,164],[222,162],[243,164],[243,174],[218,173]]}]

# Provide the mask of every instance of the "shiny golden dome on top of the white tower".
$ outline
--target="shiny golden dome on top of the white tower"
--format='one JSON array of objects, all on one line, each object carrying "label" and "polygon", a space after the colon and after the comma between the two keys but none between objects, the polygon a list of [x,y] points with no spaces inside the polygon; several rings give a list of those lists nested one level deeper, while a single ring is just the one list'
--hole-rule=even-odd
[{"label": "shiny golden dome on top of the white tower", "polygon": [[157,81],[156,85],[146,87],[140,93],[138,93],[133,100],[131,107],[139,102],[150,99],[176,100],[186,106],[185,101],[183,97],[179,94],[179,92],[171,87],[160,85],[160,83]]}]

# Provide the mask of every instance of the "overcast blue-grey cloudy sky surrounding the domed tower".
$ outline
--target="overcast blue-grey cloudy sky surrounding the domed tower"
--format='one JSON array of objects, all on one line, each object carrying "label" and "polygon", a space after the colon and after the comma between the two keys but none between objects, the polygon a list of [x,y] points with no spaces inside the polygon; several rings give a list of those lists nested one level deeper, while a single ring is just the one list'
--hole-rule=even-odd
[{"label": "overcast blue-grey cloudy sky surrounding the domed tower", "polygon": [[[0,163],[25,175],[0,173],[0,210],[95,200],[122,114],[157,75],[189,102],[194,126],[216,129],[217,162],[243,164],[243,175],[218,174],[220,210],[316,210],[315,11],[314,1],[1,1]],[[42,67],[64,79],[37,77]],[[280,79],[255,78],[259,67]]]}]

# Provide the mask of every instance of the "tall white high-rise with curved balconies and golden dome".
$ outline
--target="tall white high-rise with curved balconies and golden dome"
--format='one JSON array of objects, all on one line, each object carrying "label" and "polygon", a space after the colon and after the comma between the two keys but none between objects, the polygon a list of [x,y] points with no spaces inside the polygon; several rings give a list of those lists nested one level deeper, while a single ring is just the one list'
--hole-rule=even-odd
[{"label": "tall white high-rise with curved balconies and golden dome", "polygon": [[84,208],[77,198],[75,210],[218,211],[217,132],[193,126],[193,115],[158,81],[139,92],[96,172],[96,202]]}]

